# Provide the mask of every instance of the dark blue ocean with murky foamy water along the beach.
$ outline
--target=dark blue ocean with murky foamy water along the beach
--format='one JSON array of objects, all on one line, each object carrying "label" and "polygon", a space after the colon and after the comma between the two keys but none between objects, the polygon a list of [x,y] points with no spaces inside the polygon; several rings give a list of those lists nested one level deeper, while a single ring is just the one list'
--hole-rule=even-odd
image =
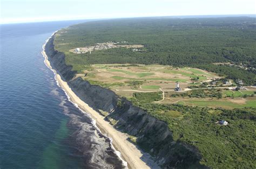
[{"label": "dark blue ocean with murky foamy water along the beach", "polygon": [[82,22],[0,25],[0,168],[124,167],[41,54],[53,32]]}]

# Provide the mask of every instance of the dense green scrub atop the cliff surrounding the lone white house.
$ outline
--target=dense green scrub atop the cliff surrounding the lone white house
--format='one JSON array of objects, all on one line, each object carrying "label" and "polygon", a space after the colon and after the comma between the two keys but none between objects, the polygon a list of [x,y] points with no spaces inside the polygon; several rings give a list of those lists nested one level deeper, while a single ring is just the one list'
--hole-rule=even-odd
[{"label": "dense green scrub atop the cliff surrounding the lone white house", "polygon": [[[198,147],[203,156],[201,164],[212,168],[255,167],[255,108],[225,110],[142,103],[137,99],[132,102],[165,121],[174,140]],[[216,123],[222,119],[227,126]]]}]

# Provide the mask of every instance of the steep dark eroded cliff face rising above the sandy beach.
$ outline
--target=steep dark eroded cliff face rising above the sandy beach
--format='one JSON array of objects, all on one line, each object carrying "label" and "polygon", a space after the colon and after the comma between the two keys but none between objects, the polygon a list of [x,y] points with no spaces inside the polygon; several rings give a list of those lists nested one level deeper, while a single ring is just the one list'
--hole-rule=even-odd
[{"label": "steep dark eroded cliff face rising above the sandy beach", "polygon": [[53,38],[45,46],[51,64],[69,83],[72,90],[90,107],[109,112],[106,119],[113,119],[114,127],[137,137],[138,146],[149,152],[164,168],[204,168],[199,164],[200,153],[196,147],[175,142],[166,123],[148,115],[144,110],[134,107],[125,98],[100,86],[90,85],[75,76],[72,67],[65,64],[64,53],[55,51]]}]

